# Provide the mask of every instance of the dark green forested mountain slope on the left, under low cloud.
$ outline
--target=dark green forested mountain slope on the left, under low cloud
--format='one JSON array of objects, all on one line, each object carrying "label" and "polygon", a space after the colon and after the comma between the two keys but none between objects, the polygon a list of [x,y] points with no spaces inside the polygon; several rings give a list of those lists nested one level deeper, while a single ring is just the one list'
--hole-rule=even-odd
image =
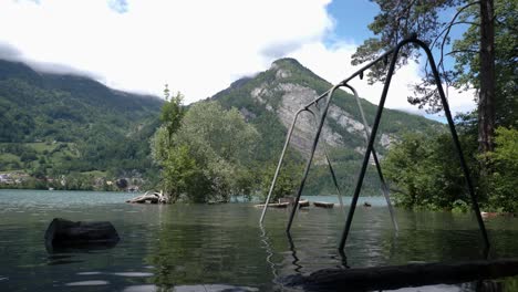
[{"label": "dark green forested mountain slope on the left, under low cloud", "polygon": [[0,171],[145,173],[162,103],[0,60]]}]

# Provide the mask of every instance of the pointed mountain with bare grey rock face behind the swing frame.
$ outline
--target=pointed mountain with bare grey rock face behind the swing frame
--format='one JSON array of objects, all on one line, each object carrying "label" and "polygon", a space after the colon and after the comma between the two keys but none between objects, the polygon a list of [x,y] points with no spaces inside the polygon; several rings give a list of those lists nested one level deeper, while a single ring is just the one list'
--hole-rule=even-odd
[{"label": "pointed mountain with bare grey rock face behind the swing frame", "polygon": [[[277,123],[276,128],[286,133],[297,111],[324,93],[332,85],[302,66],[294,59],[281,59],[271,67],[255,77],[235,82],[229,88],[219,92],[213,98],[224,106],[235,106],[247,121],[263,129],[263,135],[271,135],[272,125],[265,126],[263,116]],[[376,106],[361,100],[367,121],[372,123]],[[324,106],[324,101],[319,103]],[[314,111],[317,112],[317,109]],[[435,131],[441,124],[422,116],[400,111],[385,109],[376,147],[384,153],[394,139],[405,131]],[[315,131],[315,119],[311,114],[302,114],[296,125],[292,145],[301,153],[311,148]],[[284,137],[281,135],[282,138]],[[354,96],[339,90],[328,112],[322,132],[322,140],[331,148],[349,148],[358,154],[365,149],[365,131]]]}]

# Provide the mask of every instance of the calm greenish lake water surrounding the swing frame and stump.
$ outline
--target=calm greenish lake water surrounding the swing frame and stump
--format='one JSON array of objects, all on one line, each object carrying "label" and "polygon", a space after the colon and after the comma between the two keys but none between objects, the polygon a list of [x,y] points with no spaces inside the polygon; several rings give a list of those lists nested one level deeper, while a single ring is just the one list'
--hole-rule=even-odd
[{"label": "calm greenish lake water surrounding the swing frame and stump", "polygon": [[[360,199],[373,207],[356,209],[344,259],[336,250],[345,222],[340,208],[299,211],[290,240],[287,210],[270,209],[260,228],[253,204],[124,202],[134,196],[0,190],[0,291],[282,291],[279,279],[323,268],[483,259],[473,215],[396,209],[396,234],[381,197]],[[49,253],[44,232],[55,217],[111,221],[121,241],[106,250]],[[491,258],[518,257],[518,218],[497,217],[487,228]],[[504,291],[518,290],[517,278],[503,281]],[[397,291],[476,291],[476,284]]]}]

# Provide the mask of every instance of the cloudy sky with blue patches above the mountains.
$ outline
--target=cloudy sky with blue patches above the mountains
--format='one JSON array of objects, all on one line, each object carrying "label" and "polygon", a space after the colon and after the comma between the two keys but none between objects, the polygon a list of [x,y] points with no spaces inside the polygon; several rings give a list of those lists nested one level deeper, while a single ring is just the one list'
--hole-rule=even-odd
[{"label": "cloudy sky with blue patches above the mountains", "polygon": [[[282,56],[339,82],[358,70],[350,59],[376,13],[369,0],[2,0],[0,58],[131,92],[160,95],[167,83],[191,103]],[[386,105],[417,112],[406,96],[419,74],[400,70]],[[377,103],[382,84],[353,85]],[[469,93],[449,92],[454,111],[474,107]]]}]

